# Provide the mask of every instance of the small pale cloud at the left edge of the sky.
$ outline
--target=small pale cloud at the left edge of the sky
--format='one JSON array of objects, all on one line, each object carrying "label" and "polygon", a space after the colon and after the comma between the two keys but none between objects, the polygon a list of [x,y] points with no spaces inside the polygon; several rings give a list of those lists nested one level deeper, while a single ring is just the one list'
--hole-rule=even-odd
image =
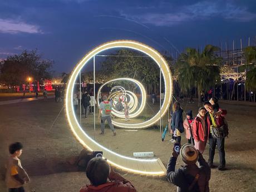
[{"label": "small pale cloud at the left edge of the sky", "polygon": [[0,33],[43,33],[38,26],[11,19],[0,19]]}]

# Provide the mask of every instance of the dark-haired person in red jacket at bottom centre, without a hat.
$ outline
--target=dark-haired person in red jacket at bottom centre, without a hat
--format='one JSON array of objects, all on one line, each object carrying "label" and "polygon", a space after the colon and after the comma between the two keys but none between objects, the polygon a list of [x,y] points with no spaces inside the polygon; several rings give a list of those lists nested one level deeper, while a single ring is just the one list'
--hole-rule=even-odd
[{"label": "dark-haired person in red jacket at bottom centre, without a hat", "polygon": [[130,181],[116,173],[105,159],[95,157],[86,168],[91,185],[85,185],[80,192],[136,192]]}]

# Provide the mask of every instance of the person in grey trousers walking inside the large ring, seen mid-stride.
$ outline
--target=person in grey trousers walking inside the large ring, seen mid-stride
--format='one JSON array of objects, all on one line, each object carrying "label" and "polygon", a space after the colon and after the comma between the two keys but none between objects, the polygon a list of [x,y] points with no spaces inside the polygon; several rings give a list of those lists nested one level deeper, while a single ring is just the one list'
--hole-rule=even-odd
[{"label": "person in grey trousers walking inside the large ring, seen mid-stride", "polygon": [[101,133],[104,134],[105,130],[105,121],[107,120],[107,124],[109,124],[109,127],[111,131],[113,132],[113,136],[116,136],[116,130],[112,124],[111,120],[111,110],[112,110],[112,103],[110,101],[107,101],[107,96],[104,95],[102,97],[103,101],[101,101],[99,106],[99,120],[101,120]]}]

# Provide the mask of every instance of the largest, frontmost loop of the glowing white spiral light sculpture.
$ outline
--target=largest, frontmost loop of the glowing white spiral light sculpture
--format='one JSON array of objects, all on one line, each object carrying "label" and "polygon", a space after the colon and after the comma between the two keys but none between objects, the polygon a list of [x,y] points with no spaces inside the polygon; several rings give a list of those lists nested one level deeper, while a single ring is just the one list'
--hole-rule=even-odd
[{"label": "largest, frontmost loop of the glowing white spiral light sculpture", "polygon": [[[83,146],[85,146],[88,150],[91,151],[103,151],[104,157],[107,159],[107,161],[110,164],[116,166],[117,168],[130,171],[136,174],[164,176],[166,169],[163,163],[161,163],[160,159],[134,159],[132,157],[117,154],[116,152],[111,151],[106,147],[100,145],[90,136],[88,136],[86,132],[83,131],[82,127],[79,125],[76,119],[76,115],[73,110],[73,88],[75,86],[76,78],[79,72],[81,71],[82,67],[86,65],[86,63],[93,56],[95,56],[97,53],[101,51],[109,50],[110,48],[133,48],[137,51],[146,53],[146,55],[149,55],[157,63],[157,65],[161,66],[161,72],[163,73],[165,81],[165,98],[163,105],[161,107],[161,109],[163,110],[161,114],[165,114],[165,112],[168,110],[172,96],[171,73],[168,67],[168,63],[164,60],[160,53],[154,50],[153,48],[144,45],[140,42],[129,40],[112,41],[100,45],[99,47],[96,47],[95,49],[90,51],[85,57],[82,58],[80,62],[78,62],[78,64],[72,71],[70,75],[70,80],[68,80],[65,98],[66,116],[68,124],[70,124],[71,131],[76,136],[76,139]],[[142,124],[139,124],[138,127],[147,126],[148,124],[150,126],[150,124],[154,124],[156,120],[160,118],[160,115],[158,115],[157,113],[153,118],[154,119],[151,119],[151,121],[146,121]]]}]

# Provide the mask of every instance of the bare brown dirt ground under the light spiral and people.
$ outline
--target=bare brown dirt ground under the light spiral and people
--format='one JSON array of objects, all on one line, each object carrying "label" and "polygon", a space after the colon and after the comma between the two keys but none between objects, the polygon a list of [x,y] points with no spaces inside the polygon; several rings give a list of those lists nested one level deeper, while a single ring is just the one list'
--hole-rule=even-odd
[{"label": "bare brown dirt ground under the light spiral and people", "polygon": [[[211,170],[210,191],[256,191],[256,106],[241,104],[220,103],[221,108],[228,110],[230,135],[225,140],[228,170]],[[193,115],[196,115],[196,104],[181,105],[184,110],[191,109]],[[76,171],[66,163],[66,159],[77,155],[82,147],[72,136],[64,111],[52,126],[62,106],[63,104],[55,103],[53,99],[0,106],[1,192],[6,191],[4,162],[8,157],[8,145],[17,141],[24,145],[22,165],[31,177],[31,183],[26,186],[27,191],[77,192],[81,186],[89,183],[85,173]],[[158,106],[156,104],[151,108],[154,111]],[[147,114],[150,116],[149,107]],[[141,120],[131,120],[133,121]],[[166,123],[166,120],[163,122]],[[88,119],[82,118],[82,126],[89,135],[94,136],[92,115]],[[99,135],[100,126],[97,121],[95,139],[109,149],[127,156],[132,156],[132,152],[137,151],[154,151],[164,165],[168,163],[173,144],[169,142],[170,136],[166,136],[164,142],[161,141],[157,127],[137,132],[117,129],[116,137],[106,127],[106,134]],[[185,144],[184,134],[182,136],[181,142]],[[206,160],[208,149],[209,146],[206,146],[203,154]],[[218,165],[218,161],[216,150],[214,164]],[[176,168],[181,165],[181,160],[178,159]],[[176,191],[176,187],[165,178],[147,178],[123,172],[120,174],[130,180],[137,191]]]}]

